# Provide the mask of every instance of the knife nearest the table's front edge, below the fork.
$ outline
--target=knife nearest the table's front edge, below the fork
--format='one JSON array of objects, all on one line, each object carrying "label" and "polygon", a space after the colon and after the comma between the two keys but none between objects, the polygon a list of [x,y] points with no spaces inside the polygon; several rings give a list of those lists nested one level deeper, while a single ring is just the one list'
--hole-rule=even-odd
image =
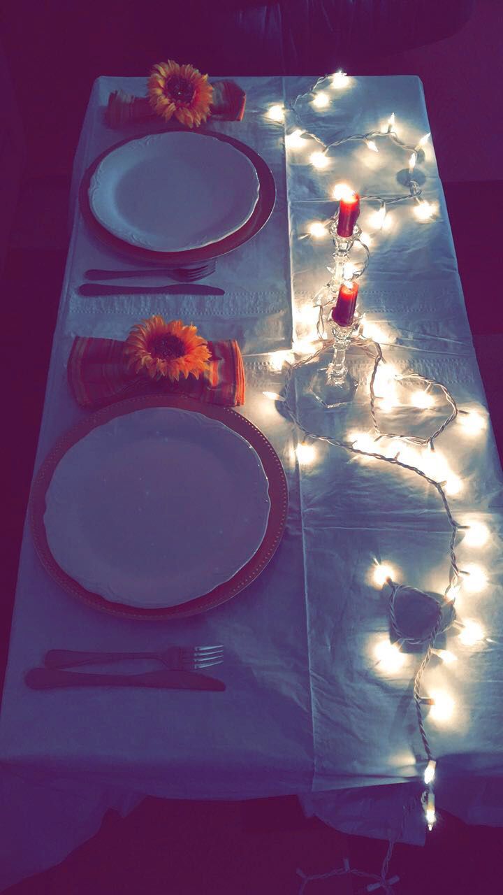
[{"label": "knife nearest the table's front edge, below the fork", "polygon": [[148,686],[168,690],[223,691],[226,685],[217,678],[195,671],[164,669],[143,674],[83,674],[63,669],[30,669],[25,682],[32,690],[48,690],[63,686]]}]

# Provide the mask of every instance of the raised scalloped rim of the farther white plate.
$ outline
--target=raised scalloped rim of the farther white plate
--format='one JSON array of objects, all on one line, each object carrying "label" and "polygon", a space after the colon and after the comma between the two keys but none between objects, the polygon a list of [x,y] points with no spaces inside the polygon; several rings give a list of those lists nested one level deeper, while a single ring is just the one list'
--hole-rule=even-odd
[{"label": "raised scalloped rim of the farther white plate", "polygon": [[[250,185],[251,185],[250,199],[248,201],[246,201],[245,203],[244,202],[242,203],[243,208],[244,208],[244,204],[246,204],[246,211],[245,211],[246,216],[243,217],[243,214],[240,215],[241,220],[240,220],[240,223],[238,224],[238,226],[235,226],[234,229],[231,230],[230,233],[221,234],[221,235],[217,236],[216,238],[210,239],[208,242],[202,243],[200,245],[192,245],[188,248],[179,248],[179,249],[163,249],[163,248],[156,247],[154,245],[149,245],[149,241],[146,238],[146,230],[145,229],[143,229],[143,231],[142,231],[142,233],[145,235],[143,235],[141,237],[141,241],[139,241],[137,243],[137,242],[135,242],[135,240],[133,238],[131,238],[131,239],[128,238],[128,233],[129,233],[129,230],[132,230],[132,226],[131,225],[129,227],[126,226],[125,219],[121,225],[121,219],[120,219],[120,217],[117,216],[116,221],[115,221],[115,226],[113,226],[114,221],[111,220],[111,221],[108,221],[108,223],[107,223],[106,214],[105,214],[105,212],[107,212],[107,207],[110,205],[110,202],[107,201],[107,192],[106,192],[106,187],[105,187],[105,176],[107,174],[110,174],[110,168],[111,168],[112,174],[116,173],[116,170],[118,169],[118,162],[115,163],[115,166],[114,165],[110,166],[109,164],[107,165],[107,163],[112,159],[113,156],[116,156],[118,158],[121,155],[121,153],[123,153],[123,156],[125,158],[128,158],[128,150],[129,150],[129,157],[138,158],[138,152],[141,152],[141,149],[143,149],[143,147],[145,148],[145,152],[147,151],[147,149],[149,147],[149,141],[155,141],[155,142],[162,141],[163,138],[165,138],[167,134],[171,134],[171,133],[182,134],[184,136],[191,136],[194,138],[198,137],[198,136],[206,137],[209,141],[212,141],[211,142],[212,148],[214,148],[215,146],[224,146],[227,149],[230,149],[231,150],[230,156],[227,152],[225,153],[227,162],[230,164],[231,158],[237,158],[239,160],[239,164],[241,166],[243,176],[245,173],[247,174],[247,176],[249,178]],[[135,143],[140,144],[140,149],[135,149],[135,147],[134,147]],[[210,151],[210,149],[208,149],[208,151]],[[136,155],[135,155],[135,153],[136,153]],[[180,153],[178,153],[178,158],[180,158]],[[236,165],[237,164],[238,163],[236,162]],[[244,164],[244,167],[243,167],[243,164]],[[124,170],[125,169],[123,166],[123,174],[124,174]],[[223,170],[225,170],[225,166],[224,166]],[[101,199],[99,199],[100,188],[102,188],[104,191],[104,192],[102,192]],[[149,133],[147,136],[134,137],[132,140],[123,143],[121,146],[115,147],[115,149],[112,149],[109,152],[107,152],[107,155],[105,155],[104,158],[102,158],[101,161],[99,162],[94,174],[90,178],[90,187],[89,187],[90,209],[91,209],[93,216],[96,218],[96,220],[100,224],[100,226],[103,226],[108,231],[108,233],[115,235],[115,237],[117,239],[120,239],[122,242],[126,243],[127,245],[133,245],[133,246],[138,245],[143,249],[147,249],[148,251],[163,251],[163,252],[192,251],[193,249],[203,249],[206,245],[209,245],[211,243],[217,243],[223,239],[226,239],[227,236],[230,236],[230,235],[234,234],[236,231],[241,230],[241,228],[246,224],[246,222],[249,220],[249,218],[252,217],[255,206],[257,205],[257,202],[259,201],[259,196],[260,196],[259,175],[257,173],[256,167],[253,165],[251,158],[249,158],[247,155],[245,155],[245,153],[241,152],[239,149],[236,149],[236,147],[233,146],[232,143],[230,143],[228,141],[217,140],[213,134],[209,134],[209,133],[198,134],[198,133],[194,133],[193,131],[187,131],[187,130],[176,130],[176,131],[171,131],[171,132],[170,131],[160,131],[158,133]],[[98,203],[97,203],[97,199],[99,200]],[[97,207],[97,205],[98,205],[98,207]],[[116,208],[116,202],[115,202],[115,208]],[[139,233],[141,231],[137,230],[136,232]],[[162,236],[162,234],[158,234],[158,239],[160,239],[161,236]],[[204,239],[204,238],[208,238],[208,237],[202,237],[202,238]]]}]

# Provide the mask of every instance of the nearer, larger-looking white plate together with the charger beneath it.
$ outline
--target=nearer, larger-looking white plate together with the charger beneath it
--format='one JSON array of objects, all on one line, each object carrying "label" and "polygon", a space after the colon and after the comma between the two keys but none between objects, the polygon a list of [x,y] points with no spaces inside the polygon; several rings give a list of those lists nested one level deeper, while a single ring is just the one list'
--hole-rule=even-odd
[{"label": "nearer, larger-looking white plate together with the charger beneath it", "polygon": [[279,458],[241,414],[146,396],[60,439],[30,518],[38,555],[65,590],[113,614],[175,618],[260,575],[286,507]]}]

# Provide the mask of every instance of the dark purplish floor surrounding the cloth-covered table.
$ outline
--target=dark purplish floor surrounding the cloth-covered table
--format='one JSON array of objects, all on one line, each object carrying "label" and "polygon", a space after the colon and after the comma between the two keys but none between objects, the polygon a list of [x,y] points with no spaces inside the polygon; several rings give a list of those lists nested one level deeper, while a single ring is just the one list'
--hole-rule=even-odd
[{"label": "dark purplish floor surrounding the cloth-covered table", "polygon": [[[106,5],[113,3],[110,0]],[[491,79],[498,80],[496,56],[491,55],[491,47],[498,55],[500,5],[499,0],[481,0],[479,5],[473,21],[459,35],[442,41],[441,45],[388,57],[380,69],[374,66],[372,73],[419,73],[425,84],[473,340],[501,456],[503,310],[499,303],[499,284],[503,278],[503,262],[498,243],[488,238],[487,226],[480,229],[473,226],[473,221],[488,219],[491,212],[499,213],[498,209],[503,207],[503,181],[495,179],[500,176],[500,125],[498,119],[496,124],[492,119],[489,121],[492,94],[490,90],[482,90]],[[43,44],[42,6],[39,4],[36,25]],[[122,34],[122,8],[117,4],[118,41]],[[82,28],[86,28],[83,13]],[[17,47],[18,42],[21,46],[23,29],[22,15],[16,14],[13,4],[4,21],[4,35],[13,41],[13,46]],[[479,62],[467,52],[473,41],[483,42],[488,48]],[[18,51],[14,54],[11,48],[13,72],[29,135],[27,175],[30,179],[21,197],[0,284],[3,297],[0,350],[4,369],[11,371],[8,385],[4,383],[4,420],[19,422],[21,419],[21,432],[18,427],[14,437],[13,428],[6,425],[5,431],[11,435],[4,435],[3,468],[7,472],[2,482],[4,512],[0,532],[0,674],[6,658],[21,530],[63,277],[67,238],[65,206],[72,153],[92,77],[98,73],[132,72],[131,68],[124,67],[124,60],[120,68],[111,64],[105,71],[99,59],[93,61],[91,54],[89,68],[84,72],[67,70],[63,86],[58,87],[58,97],[65,108],[63,117],[55,104],[30,100],[30,78],[20,80],[22,65],[14,55],[17,58]],[[121,58],[120,53],[115,55]],[[41,58],[43,50],[39,49],[38,56],[35,52],[35,64]],[[69,55],[64,62],[70,65]],[[51,83],[51,78],[56,83],[60,66],[61,60],[47,56],[44,64],[47,83]],[[463,94],[463,114],[456,112],[459,91]],[[481,103],[489,121],[483,141],[477,120]],[[473,160],[479,148],[480,165]],[[487,282],[485,277],[489,277]],[[481,312],[482,291],[488,307],[485,313]],[[29,309],[27,294],[31,296]],[[397,895],[416,892],[478,895],[500,891],[498,856],[502,848],[503,831],[470,828],[442,815],[425,848],[396,847],[391,869],[402,881],[396,887]],[[385,850],[385,843],[346,837],[317,820],[305,820],[294,797],[248,803],[187,803],[148,798],[125,820],[113,812],[107,814],[98,835],[62,865],[21,882],[9,892],[13,895],[89,895],[90,892],[93,895],[115,892],[213,895],[239,891],[243,895],[258,892],[290,895],[299,887],[295,875],[297,866],[306,872],[322,873],[340,865],[347,856],[355,867],[376,872]],[[361,881],[351,885],[347,880],[332,880],[312,884],[308,895],[311,891],[316,895],[325,892],[337,895],[360,889]]]}]

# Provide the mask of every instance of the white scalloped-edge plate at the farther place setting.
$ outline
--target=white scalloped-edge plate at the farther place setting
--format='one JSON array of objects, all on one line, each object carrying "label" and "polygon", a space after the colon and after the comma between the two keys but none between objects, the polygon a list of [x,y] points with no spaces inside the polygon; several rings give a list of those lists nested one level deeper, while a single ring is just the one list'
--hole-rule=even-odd
[{"label": "white scalloped-edge plate at the farther place setting", "polygon": [[242,227],[259,188],[252,162],[229,143],[184,131],[154,133],[103,158],[91,178],[90,209],[126,243],[187,251]]}]

